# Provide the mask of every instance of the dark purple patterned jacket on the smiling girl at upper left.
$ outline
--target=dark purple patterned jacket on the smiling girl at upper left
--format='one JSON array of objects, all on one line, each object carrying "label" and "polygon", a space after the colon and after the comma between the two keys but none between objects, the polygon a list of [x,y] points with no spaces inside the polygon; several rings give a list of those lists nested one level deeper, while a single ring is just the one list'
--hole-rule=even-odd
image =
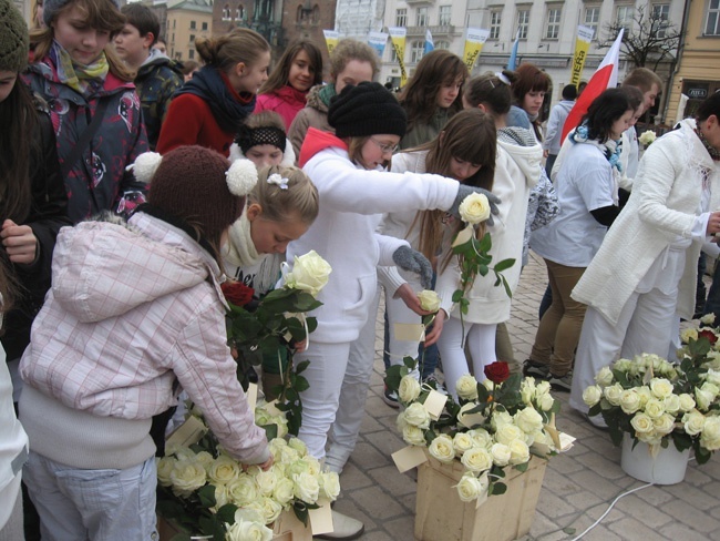
[{"label": "dark purple patterned jacket on the smiling girl at upper left", "polygon": [[61,165],[89,126],[99,103],[110,102],[100,129],[64,178],[72,222],[100,211],[127,215],[143,203],[147,186],[125,171],[148,150],[135,85],[109,73],[103,86],[86,99],[59,80],[50,58],[31,64],[24,78],[50,105]]}]

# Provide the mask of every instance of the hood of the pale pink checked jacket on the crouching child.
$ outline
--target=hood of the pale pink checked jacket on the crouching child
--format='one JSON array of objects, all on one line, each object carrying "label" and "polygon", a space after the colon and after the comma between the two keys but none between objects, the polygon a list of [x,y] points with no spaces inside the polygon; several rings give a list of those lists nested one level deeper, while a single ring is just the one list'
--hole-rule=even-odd
[{"label": "hood of the pale pink checked jacket on the crouching child", "polygon": [[55,300],[82,323],[121,316],[219,275],[217,264],[181,229],[144,213],[127,224],[63,227],[52,264]]}]

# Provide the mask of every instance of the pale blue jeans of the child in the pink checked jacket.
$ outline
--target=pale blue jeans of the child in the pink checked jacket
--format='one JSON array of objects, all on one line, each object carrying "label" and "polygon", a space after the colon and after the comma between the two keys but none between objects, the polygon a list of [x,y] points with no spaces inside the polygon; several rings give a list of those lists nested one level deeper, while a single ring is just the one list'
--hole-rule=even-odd
[{"label": "pale blue jeans of the child in the pink checked jacket", "polygon": [[155,457],[123,470],[81,470],[30,451],[22,480],[43,541],[157,539]]}]

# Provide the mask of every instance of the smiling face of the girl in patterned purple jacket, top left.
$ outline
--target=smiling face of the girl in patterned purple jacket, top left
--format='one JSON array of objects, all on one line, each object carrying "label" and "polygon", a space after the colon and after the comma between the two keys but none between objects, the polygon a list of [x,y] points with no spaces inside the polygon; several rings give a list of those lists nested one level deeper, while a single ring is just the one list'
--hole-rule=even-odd
[{"label": "smiling face of the girl in patterned purple jacket, top left", "polygon": [[52,23],[54,38],[79,64],[92,64],[110,41],[110,32],[90,28],[82,11],[74,6],[61,12]]}]

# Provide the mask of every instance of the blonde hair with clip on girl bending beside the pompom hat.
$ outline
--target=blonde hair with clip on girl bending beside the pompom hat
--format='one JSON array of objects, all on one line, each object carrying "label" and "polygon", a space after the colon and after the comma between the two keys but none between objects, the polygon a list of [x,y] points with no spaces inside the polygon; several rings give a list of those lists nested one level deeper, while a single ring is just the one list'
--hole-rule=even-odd
[{"label": "blonde hair with clip on girl bending beside the pompom hat", "polygon": [[[278,174],[287,181],[287,187],[268,182]],[[257,184],[248,195],[250,204],[263,207],[263,217],[270,222],[288,222],[296,215],[304,224],[311,224],[318,217],[318,188],[302,170],[295,166],[269,165],[258,171]]]}]

